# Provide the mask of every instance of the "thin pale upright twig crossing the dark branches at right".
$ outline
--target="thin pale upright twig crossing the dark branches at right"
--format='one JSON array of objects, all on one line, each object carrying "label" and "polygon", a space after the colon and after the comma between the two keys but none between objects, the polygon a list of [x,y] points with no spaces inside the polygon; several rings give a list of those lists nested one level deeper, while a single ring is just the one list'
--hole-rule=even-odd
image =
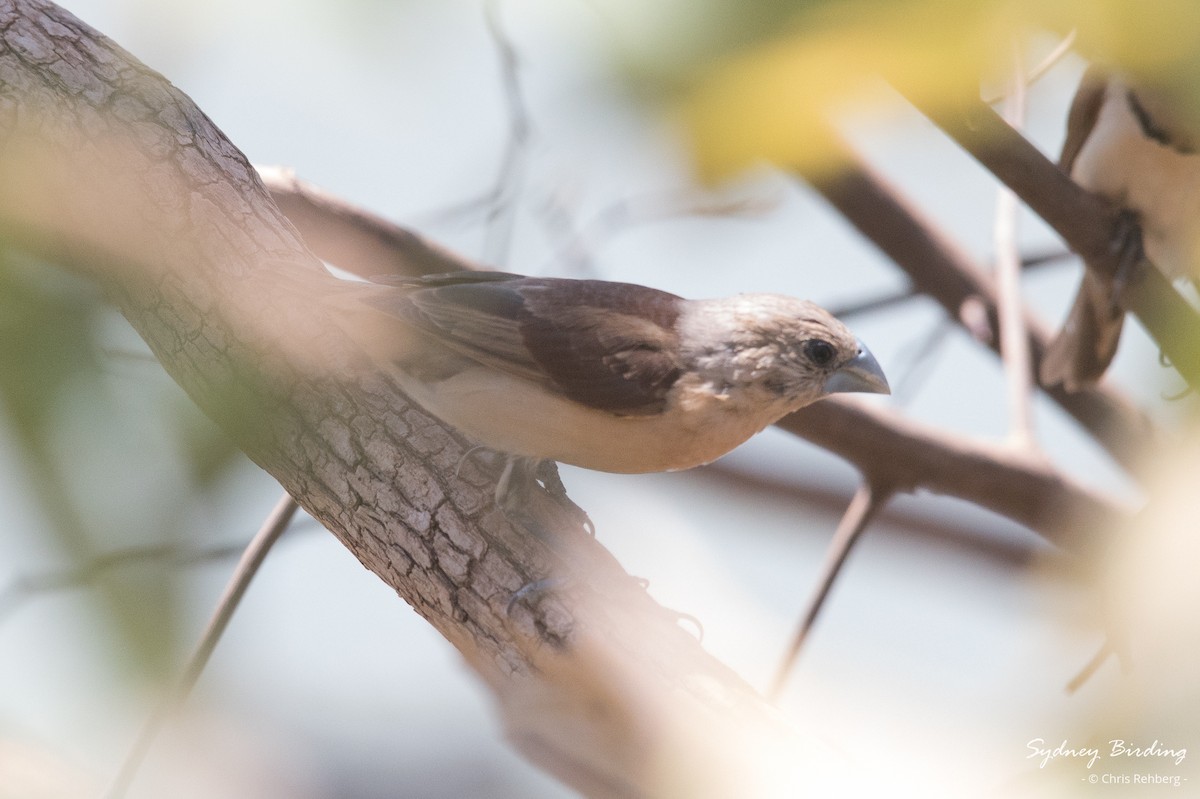
[{"label": "thin pale upright twig crossing the dark branches at right", "polygon": [[[1025,124],[1025,76],[1020,47],[1013,47],[1013,76],[1004,121],[1020,130]],[[1021,254],[1016,244],[1016,220],[1020,210],[1016,193],[1007,186],[997,188],[996,198],[996,288],[1000,301],[1000,353],[1004,361],[1008,395],[1009,437],[1021,449],[1034,446],[1033,368],[1030,365],[1030,337],[1025,328],[1021,302]]]}]

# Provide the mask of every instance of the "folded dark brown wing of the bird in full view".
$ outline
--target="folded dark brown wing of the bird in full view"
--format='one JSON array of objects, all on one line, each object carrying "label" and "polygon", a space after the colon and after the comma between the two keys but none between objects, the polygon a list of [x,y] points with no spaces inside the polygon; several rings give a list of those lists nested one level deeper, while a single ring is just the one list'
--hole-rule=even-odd
[{"label": "folded dark brown wing of the bird in full view", "polygon": [[439,344],[581,404],[660,411],[682,372],[682,300],[604,281],[455,272],[389,281],[371,302]]}]

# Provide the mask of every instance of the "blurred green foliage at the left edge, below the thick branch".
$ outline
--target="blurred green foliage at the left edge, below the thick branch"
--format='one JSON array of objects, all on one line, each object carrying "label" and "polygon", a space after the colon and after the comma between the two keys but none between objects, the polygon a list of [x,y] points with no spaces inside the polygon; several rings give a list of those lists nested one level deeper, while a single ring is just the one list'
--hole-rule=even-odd
[{"label": "blurred green foliage at the left edge, below the thick branch", "polygon": [[[113,355],[98,334],[110,313],[94,284],[0,244],[0,416],[16,449],[12,459],[67,567],[82,573],[102,553],[131,541],[178,539],[178,523],[194,499],[187,492],[145,491],[140,507],[95,501],[108,492],[120,497],[119,487],[161,485],[152,480],[160,465],[126,435],[149,420],[122,407],[112,391]],[[168,402],[162,410],[176,450],[187,458],[192,487],[211,487],[235,462],[236,450],[194,407]],[[114,451],[114,440],[124,449]],[[112,468],[96,469],[97,462]],[[144,529],[146,519],[155,529]],[[86,588],[119,633],[114,653],[124,665],[149,672],[170,665],[176,577],[156,567],[90,577]]]}]

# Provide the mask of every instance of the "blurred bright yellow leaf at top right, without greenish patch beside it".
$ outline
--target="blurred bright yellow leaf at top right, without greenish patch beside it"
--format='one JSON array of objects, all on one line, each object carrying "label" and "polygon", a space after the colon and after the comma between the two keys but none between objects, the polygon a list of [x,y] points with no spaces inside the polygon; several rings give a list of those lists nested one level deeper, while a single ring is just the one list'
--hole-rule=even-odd
[{"label": "blurred bright yellow leaf at top right, without greenish patch beside it", "polygon": [[1122,68],[1188,85],[1200,74],[1196,0],[846,0],[805,6],[774,36],[714,54],[677,116],[704,179],[761,162],[811,174],[836,167],[832,124],[874,102],[881,79],[923,102],[978,98],[1020,37],[1072,28],[1085,54]]}]

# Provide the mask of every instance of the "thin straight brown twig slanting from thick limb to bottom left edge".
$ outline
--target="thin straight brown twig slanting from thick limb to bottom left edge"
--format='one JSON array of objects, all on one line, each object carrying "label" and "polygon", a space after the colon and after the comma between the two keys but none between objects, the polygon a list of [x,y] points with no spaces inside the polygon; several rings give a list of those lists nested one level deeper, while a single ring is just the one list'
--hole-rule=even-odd
[{"label": "thin straight brown twig slanting from thick limb to bottom left edge", "polygon": [[121,799],[128,791],[158,732],[166,725],[170,714],[187,701],[192,689],[196,687],[197,680],[199,680],[200,674],[204,672],[204,667],[208,666],[209,657],[212,656],[212,650],[216,649],[226,627],[229,626],[229,620],[238,609],[238,605],[250,587],[250,582],[258,573],[263,560],[266,558],[266,553],[271,551],[275,542],[288,529],[288,522],[292,521],[298,507],[299,505],[296,505],[295,500],[284,493],[270,516],[266,517],[263,528],[254,535],[250,546],[246,547],[241,560],[238,561],[238,567],[234,569],[233,576],[226,585],[224,593],[222,593],[221,599],[217,601],[216,609],[212,612],[212,617],[209,619],[209,624],[204,629],[196,650],[180,674],[179,681],[146,719],[125,762],[121,764],[116,779],[106,794],[107,799]]}]

